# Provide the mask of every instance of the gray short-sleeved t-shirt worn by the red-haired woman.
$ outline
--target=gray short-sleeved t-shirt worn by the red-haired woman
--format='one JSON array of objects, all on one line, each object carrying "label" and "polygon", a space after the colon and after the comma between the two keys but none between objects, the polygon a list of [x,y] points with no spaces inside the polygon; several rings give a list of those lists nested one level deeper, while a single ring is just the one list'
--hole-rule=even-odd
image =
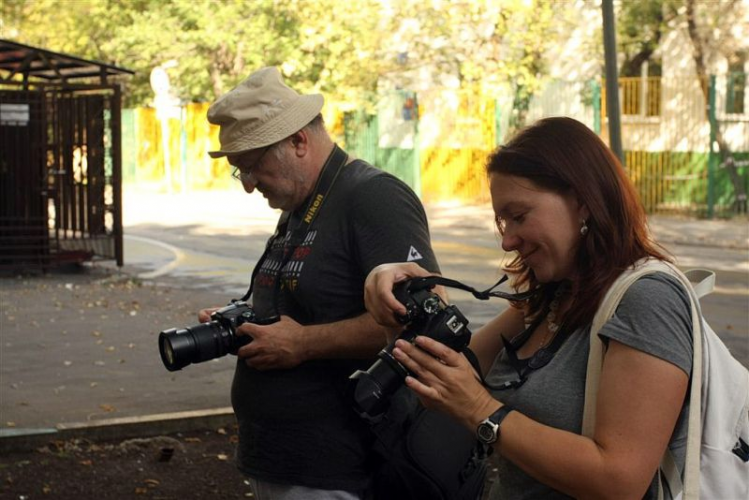
[{"label": "gray short-sleeved t-shirt worn by the red-haired woman", "polygon": [[[599,333],[604,343],[614,339],[639,351],[673,363],[688,375],[692,370],[692,320],[689,295],[671,276],[656,273],[640,278]],[[545,425],[577,434],[582,429],[585,374],[590,350],[590,325],[570,335],[551,362],[532,372],[515,390],[495,391],[500,401]],[[487,382],[498,386],[518,375],[504,351],[489,371]],[[669,442],[679,470],[686,453],[688,401],[682,406]],[[569,498],[536,481],[501,455],[495,455],[498,478],[492,499]],[[657,498],[655,478],[644,498]],[[668,492],[665,497],[670,498]]]}]

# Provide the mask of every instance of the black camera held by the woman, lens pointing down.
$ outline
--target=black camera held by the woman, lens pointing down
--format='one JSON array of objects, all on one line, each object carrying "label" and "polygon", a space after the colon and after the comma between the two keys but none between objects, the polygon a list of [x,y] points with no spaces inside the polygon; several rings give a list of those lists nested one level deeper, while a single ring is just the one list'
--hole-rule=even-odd
[{"label": "black camera held by the woman, lens pointing down", "polygon": [[[393,295],[406,307],[406,314],[398,321],[406,325],[398,338],[408,342],[417,335],[430,337],[455,351],[462,351],[471,340],[468,320],[454,305],[445,304],[431,289],[429,279],[415,278],[397,284]],[[406,367],[393,357],[395,341],[377,355],[377,361],[367,371],[357,370],[350,379],[354,409],[365,418],[377,418],[387,410],[390,397],[402,385]]]}]

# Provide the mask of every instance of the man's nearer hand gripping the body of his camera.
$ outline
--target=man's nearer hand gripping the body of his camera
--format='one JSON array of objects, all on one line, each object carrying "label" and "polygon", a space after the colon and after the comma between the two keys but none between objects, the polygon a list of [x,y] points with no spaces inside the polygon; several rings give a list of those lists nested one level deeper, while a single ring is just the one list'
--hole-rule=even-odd
[{"label": "man's nearer hand gripping the body of his camera", "polygon": [[237,334],[252,337],[237,356],[257,370],[294,368],[308,358],[305,327],[288,316],[281,316],[270,325],[244,323],[237,328]]}]

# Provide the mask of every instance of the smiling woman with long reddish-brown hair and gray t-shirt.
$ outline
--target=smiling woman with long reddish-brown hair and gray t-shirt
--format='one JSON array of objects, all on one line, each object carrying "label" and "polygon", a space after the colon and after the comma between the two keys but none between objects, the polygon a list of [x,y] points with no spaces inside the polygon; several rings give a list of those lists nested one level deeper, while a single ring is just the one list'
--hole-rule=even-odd
[{"label": "smiling woman with long reddish-brown hair and gray t-shirt", "polygon": [[[668,448],[684,467],[692,368],[687,291],[666,273],[640,278],[599,332],[606,354],[595,430],[581,435],[593,317],[616,278],[643,258],[670,261],[650,236],[637,193],[585,125],[547,118],[489,158],[505,271],[533,292],[476,331],[465,357],[426,336],[393,351],[406,385],[496,451],[492,498],[658,498]],[[365,286],[369,311],[395,326],[395,283],[429,273],[386,264]],[[664,491],[665,498],[670,497]]]}]

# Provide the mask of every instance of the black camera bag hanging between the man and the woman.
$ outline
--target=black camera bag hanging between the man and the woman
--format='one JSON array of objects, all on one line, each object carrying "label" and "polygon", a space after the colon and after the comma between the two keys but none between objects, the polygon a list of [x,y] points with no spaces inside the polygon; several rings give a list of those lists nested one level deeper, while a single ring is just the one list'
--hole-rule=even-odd
[{"label": "black camera bag hanging between the man and the woman", "polygon": [[476,436],[447,415],[428,410],[407,388],[393,395],[372,424],[378,460],[375,500],[476,500],[487,465]]}]

